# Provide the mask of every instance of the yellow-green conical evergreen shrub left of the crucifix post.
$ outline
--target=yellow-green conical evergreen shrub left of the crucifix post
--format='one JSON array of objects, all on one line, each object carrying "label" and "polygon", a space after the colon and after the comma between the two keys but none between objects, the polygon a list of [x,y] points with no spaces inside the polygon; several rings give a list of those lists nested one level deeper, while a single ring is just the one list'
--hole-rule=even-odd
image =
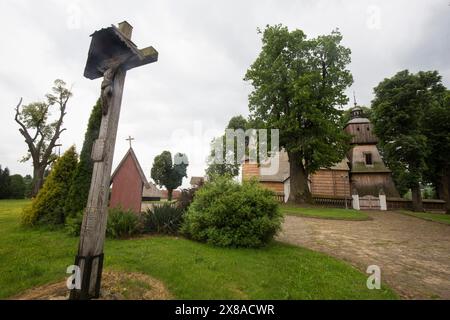
[{"label": "yellow-green conical evergreen shrub left of the crucifix post", "polygon": [[56,160],[41,190],[31,205],[22,212],[25,225],[63,225],[66,219],[65,202],[73,173],[78,162],[75,147],[70,147]]}]

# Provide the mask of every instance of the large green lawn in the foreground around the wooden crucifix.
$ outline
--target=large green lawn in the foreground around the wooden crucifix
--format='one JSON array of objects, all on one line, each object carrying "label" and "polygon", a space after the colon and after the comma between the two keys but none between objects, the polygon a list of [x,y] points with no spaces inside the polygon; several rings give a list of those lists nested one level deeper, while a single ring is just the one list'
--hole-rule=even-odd
[{"label": "large green lawn in the foreground around the wooden crucifix", "polygon": [[[0,298],[63,280],[77,238],[63,230],[25,229],[25,201],[0,201]],[[395,299],[368,290],[366,274],[307,249],[273,242],[262,249],[223,249],[183,238],[142,237],[105,245],[109,270],[148,274],[179,299]]]}]

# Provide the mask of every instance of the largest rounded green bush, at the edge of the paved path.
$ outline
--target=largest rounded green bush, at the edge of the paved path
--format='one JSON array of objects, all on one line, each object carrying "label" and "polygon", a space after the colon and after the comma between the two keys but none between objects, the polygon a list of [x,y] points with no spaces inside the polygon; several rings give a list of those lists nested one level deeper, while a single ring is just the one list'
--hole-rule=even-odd
[{"label": "largest rounded green bush, at the edge of the paved path", "polygon": [[257,181],[240,185],[218,177],[196,193],[182,232],[222,247],[259,247],[280,230],[282,219],[273,192]]}]

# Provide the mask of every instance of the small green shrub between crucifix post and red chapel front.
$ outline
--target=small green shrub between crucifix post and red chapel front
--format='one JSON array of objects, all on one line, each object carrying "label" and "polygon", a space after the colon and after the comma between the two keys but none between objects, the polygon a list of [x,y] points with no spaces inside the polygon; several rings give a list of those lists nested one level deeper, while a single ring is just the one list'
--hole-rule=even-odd
[{"label": "small green shrub between crucifix post and red chapel front", "polygon": [[127,238],[141,232],[139,218],[131,210],[122,208],[110,209],[108,213],[108,223],[106,225],[106,235],[119,239]]}]

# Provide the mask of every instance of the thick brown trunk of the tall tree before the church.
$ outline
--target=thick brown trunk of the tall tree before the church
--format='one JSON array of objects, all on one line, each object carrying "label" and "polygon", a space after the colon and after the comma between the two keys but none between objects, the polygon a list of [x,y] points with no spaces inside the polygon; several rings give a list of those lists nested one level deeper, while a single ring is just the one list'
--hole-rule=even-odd
[{"label": "thick brown trunk of the tall tree before the church", "polygon": [[308,175],[298,153],[288,152],[290,168],[290,192],[288,201],[291,203],[312,203],[308,186]]}]

